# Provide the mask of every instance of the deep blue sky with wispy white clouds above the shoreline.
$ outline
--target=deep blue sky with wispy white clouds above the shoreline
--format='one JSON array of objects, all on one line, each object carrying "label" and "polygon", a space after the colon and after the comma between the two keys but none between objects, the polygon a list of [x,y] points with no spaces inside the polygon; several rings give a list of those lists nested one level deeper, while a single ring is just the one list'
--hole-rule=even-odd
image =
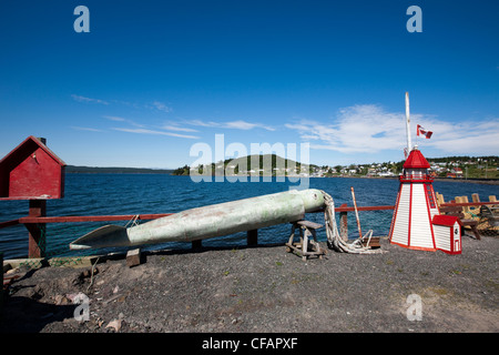
[{"label": "deep blue sky with wispy white clouds above the shoreline", "polygon": [[[73,29],[80,4],[89,33]],[[419,33],[406,29],[413,4]],[[400,161],[406,91],[413,124],[434,132],[417,141],[426,156],[497,155],[498,10],[497,1],[3,0],[0,156],[35,135],[68,164],[176,168],[197,159],[194,144],[214,150],[224,134],[248,152],[308,142],[316,164]]]}]

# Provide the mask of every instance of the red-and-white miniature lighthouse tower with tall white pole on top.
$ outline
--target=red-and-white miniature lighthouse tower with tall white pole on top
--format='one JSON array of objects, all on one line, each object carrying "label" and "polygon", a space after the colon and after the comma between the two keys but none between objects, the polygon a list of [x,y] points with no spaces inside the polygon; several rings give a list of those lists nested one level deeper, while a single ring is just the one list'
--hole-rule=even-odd
[{"label": "red-and-white miniature lighthouse tower with tall white pole on top", "polygon": [[417,146],[410,148],[409,98],[406,93],[409,156],[400,175],[400,186],[390,226],[390,243],[413,250],[436,251],[434,215],[439,214],[428,161]]}]

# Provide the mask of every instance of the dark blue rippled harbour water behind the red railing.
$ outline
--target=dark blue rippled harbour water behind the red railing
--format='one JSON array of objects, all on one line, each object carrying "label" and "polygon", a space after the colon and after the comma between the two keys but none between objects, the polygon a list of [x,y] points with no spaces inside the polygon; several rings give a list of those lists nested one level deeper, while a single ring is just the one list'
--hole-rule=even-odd
[{"label": "dark blue rippled harbour water behind the red railing", "polygon": [[[320,189],[329,193],[335,205],[353,205],[352,191],[358,206],[394,205],[399,182],[396,179],[342,179],[310,178],[310,189]],[[67,174],[65,193],[61,200],[47,202],[47,215],[113,215],[175,213],[187,209],[259,196],[298,187],[298,182],[200,182],[189,176],[165,174]],[[478,193],[481,201],[489,195],[499,196],[498,185],[476,184],[454,181],[434,182],[436,192],[444,194],[446,201],[455,196]],[[0,222],[14,220],[28,214],[28,201],[1,201]],[[359,212],[363,232],[374,231],[374,235],[387,235],[393,211]],[[324,224],[320,213],[307,214],[307,220]],[[338,214],[336,214],[338,220]],[[105,224],[125,225],[128,221],[99,223],[51,223],[47,225],[48,256],[74,255],[68,244],[85,233]],[[348,213],[350,237],[358,236],[355,214]],[[258,243],[285,243],[289,236],[288,224],[272,226],[258,231]],[[325,230],[318,231],[318,239],[326,240]],[[237,247],[245,245],[246,233],[237,233],[203,241],[206,246]],[[145,248],[187,248],[191,243],[166,243]],[[28,252],[28,232],[23,225],[0,230],[0,251],[4,258],[26,257]],[[122,251],[122,250],[106,250]],[[86,251],[95,254],[101,251]]]}]

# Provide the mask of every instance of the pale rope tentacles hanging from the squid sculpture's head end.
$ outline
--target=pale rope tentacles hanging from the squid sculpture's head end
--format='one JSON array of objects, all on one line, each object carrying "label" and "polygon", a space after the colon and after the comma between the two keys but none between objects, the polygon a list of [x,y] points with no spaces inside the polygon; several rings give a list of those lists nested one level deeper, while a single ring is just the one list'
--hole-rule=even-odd
[{"label": "pale rope tentacles hanging from the squid sculpture's head end", "polygon": [[368,239],[367,245],[369,245],[370,237],[373,236],[373,230],[364,235],[364,237],[358,237],[352,243],[345,242],[338,233],[338,226],[336,225],[335,219],[335,202],[333,197],[325,191],[322,191],[325,201],[324,210],[324,221],[326,224],[326,235],[327,245],[339,253],[350,253],[350,254],[380,254],[384,253],[380,248],[370,248],[363,245],[363,239]]}]

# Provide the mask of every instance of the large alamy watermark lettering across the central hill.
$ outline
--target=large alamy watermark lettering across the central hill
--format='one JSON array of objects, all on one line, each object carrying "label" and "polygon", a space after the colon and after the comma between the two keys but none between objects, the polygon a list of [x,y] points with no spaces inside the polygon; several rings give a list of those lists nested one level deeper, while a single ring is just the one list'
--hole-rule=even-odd
[{"label": "large alamy watermark lettering across the central hill", "polygon": [[[225,146],[224,134],[215,134],[215,146],[198,142],[190,156],[197,158],[190,166],[193,182],[298,182],[295,187],[308,189],[310,174],[309,143],[240,142]],[[235,158],[232,158],[235,156]]]}]

